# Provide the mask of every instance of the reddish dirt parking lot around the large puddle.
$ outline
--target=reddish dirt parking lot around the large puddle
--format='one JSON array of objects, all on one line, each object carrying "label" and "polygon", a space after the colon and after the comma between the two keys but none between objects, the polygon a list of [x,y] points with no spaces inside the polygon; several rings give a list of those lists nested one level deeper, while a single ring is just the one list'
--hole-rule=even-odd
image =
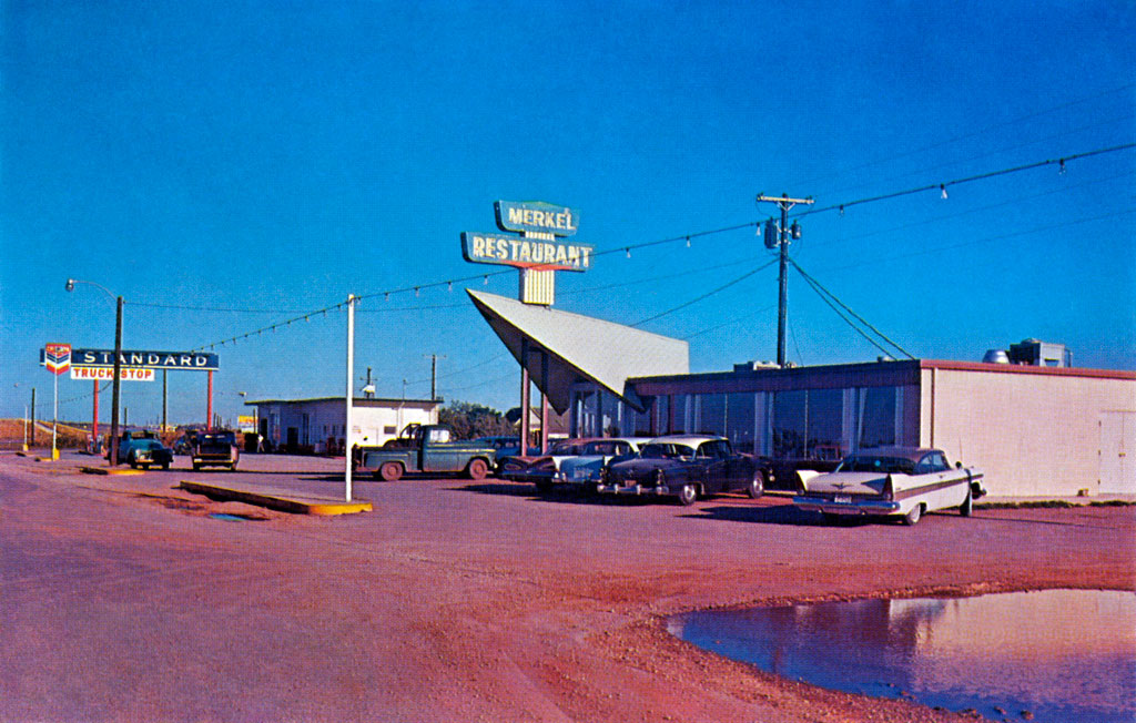
[{"label": "reddish dirt parking lot around the large puddle", "polygon": [[92,461],[0,456],[2,721],[954,721],[703,653],[665,616],[1136,589],[1134,507],[824,527],[785,497],[680,507],[409,479],[358,481],[373,513],[314,518],[174,487],[335,496],[342,461],[78,472]]}]

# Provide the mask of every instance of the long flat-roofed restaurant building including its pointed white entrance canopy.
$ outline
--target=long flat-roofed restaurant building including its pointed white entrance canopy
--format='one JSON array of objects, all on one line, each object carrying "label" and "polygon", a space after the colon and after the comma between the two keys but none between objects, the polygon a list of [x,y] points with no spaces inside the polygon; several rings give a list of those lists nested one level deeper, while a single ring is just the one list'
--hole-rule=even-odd
[{"label": "long flat-roofed restaurant building including its pointed white entrance canopy", "polygon": [[[772,459],[938,447],[995,496],[1136,495],[1136,372],[1027,339],[995,361],[884,360],[690,373],[685,342],[469,292],[573,436],[708,432]],[[519,351],[524,348],[524,356]]]}]

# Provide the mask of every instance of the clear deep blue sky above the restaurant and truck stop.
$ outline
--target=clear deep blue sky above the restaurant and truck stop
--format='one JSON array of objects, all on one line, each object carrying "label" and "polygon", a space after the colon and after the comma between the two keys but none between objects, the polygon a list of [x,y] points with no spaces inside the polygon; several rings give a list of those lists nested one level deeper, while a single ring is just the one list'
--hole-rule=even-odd
[{"label": "clear deep blue sky above the restaurant and truck stop", "polygon": [[[493,202],[582,213],[624,249],[1131,143],[1136,9],[1124,2],[3,3],[0,414],[50,412],[49,342],[186,350],[343,301],[356,377],[518,402],[461,291],[515,295],[461,258]],[[916,356],[1026,337],[1136,369],[1136,151],[801,219],[791,253]],[[557,308],[635,323],[772,260],[752,227],[559,274]],[[776,266],[644,325],[694,371],[776,356]],[[187,309],[192,308],[192,309]],[[788,359],[879,351],[790,277]],[[215,348],[215,407],[342,393],[345,314]],[[406,381],[406,384],[403,384]],[[19,386],[16,386],[19,385]],[[62,379],[60,417],[90,415]],[[157,421],[160,382],[124,384]],[[173,422],[203,375],[170,375]],[[109,419],[109,394],[102,418]]]}]

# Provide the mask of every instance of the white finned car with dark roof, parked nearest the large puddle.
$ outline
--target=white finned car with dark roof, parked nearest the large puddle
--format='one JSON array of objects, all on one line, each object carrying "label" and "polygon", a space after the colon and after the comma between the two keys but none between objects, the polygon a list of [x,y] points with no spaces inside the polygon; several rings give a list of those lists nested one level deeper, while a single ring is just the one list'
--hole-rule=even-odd
[{"label": "white finned car with dark roof, parked nearest the large puddle", "polygon": [[882,447],[852,454],[834,472],[803,481],[793,504],[826,520],[882,515],[914,524],[936,510],[953,507],[969,516],[974,501],[986,494],[982,479],[976,468],[961,462],[952,468],[942,449]]}]

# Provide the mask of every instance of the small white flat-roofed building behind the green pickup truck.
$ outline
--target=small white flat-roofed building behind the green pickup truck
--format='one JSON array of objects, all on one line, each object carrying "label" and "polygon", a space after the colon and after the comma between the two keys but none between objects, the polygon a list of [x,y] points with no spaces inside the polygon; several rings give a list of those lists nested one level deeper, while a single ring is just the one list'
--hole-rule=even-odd
[{"label": "small white flat-roofed building behind the green pickup truck", "polygon": [[352,429],[345,443],[346,402],[343,397],[258,400],[257,428],[276,449],[342,454],[350,445],[381,445],[410,423],[436,424],[442,400],[374,400],[352,403]]}]

